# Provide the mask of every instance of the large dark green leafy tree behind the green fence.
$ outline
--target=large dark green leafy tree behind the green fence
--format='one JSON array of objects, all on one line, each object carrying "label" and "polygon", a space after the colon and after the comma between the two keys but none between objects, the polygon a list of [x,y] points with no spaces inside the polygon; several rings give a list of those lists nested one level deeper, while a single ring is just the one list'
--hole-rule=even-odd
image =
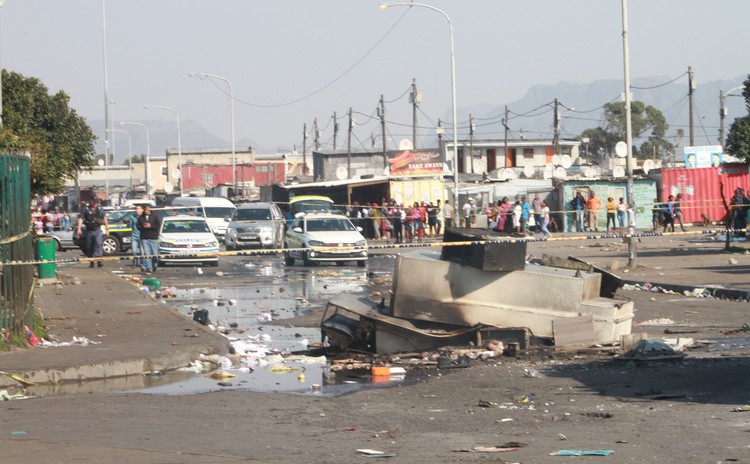
[{"label": "large dark green leafy tree behind the green fence", "polygon": [[31,192],[57,193],[77,170],[94,165],[94,136],[68,106],[64,91],[54,95],[37,78],[2,71],[3,128],[0,150],[31,153]]}]

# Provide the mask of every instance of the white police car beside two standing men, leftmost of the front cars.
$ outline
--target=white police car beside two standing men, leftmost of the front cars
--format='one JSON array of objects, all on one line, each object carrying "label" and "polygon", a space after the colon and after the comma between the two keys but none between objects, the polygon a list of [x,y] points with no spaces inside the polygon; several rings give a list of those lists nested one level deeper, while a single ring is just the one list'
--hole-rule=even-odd
[{"label": "white police car beside two standing men, leftmost of the front cars", "polygon": [[[160,265],[205,263],[219,265],[219,240],[205,218],[166,216],[159,231]],[[164,256],[167,255],[167,256]]]}]

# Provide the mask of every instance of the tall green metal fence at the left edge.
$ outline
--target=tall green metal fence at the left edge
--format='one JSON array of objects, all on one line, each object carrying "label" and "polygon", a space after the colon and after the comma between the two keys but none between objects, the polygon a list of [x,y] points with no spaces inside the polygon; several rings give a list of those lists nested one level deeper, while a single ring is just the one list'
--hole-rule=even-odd
[{"label": "tall green metal fence at the left edge", "polygon": [[0,335],[17,335],[34,318],[34,268],[3,263],[34,259],[29,165],[25,155],[0,154]]}]

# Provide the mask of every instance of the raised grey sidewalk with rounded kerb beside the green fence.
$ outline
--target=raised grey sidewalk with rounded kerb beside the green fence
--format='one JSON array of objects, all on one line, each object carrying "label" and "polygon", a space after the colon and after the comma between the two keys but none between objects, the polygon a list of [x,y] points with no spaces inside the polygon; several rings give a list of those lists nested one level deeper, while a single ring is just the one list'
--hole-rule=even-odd
[{"label": "raised grey sidewalk with rounded kerb beside the green fence", "polygon": [[[59,342],[75,336],[99,344],[3,352],[0,371],[52,385],[121,376],[142,379],[144,372],[186,366],[200,354],[228,352],[222,335],[141,293],[111,270],[106,265],[66,267],[58,269],[57,284],[35,288],[35,306],[42,309],[51,335]],[[0,388],[10,385],[18,383],[0,375]]]}]

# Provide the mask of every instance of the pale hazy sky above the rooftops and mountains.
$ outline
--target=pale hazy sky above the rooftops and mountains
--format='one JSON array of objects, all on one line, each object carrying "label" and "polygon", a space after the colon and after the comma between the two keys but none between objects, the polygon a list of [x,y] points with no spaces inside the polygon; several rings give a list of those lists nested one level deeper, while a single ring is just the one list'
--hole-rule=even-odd
[{"label": "pale hazy sky above the rooftops and mountains", "polygon": [[[413,79],[422,98],[420,138],[433,136],[438,118],[450,124],[450,34],[437,11],[382,10],[379,0],[104,2],[106,27],[102,0],[6,0],[2,67],[41,79],[51,92],[64,90],[79,114],[103,120],[106,29],[114,121],[171,124],[172,112],[144,108],[169,106],[183,128],[197,123],[228,144],[226,83],[188,76],[214,74],[232,84],[238,147],[243,141],[263,152],[301,150],[305,123],[309,150],[315,118],[321,145],[330,147],[334,112],[337,148],[345,148],[349,108],[353,146],[369,148],[373,134],[380,146],[381,95],[388,144],[411,138]],[[621,0],[429,4],[453,27],[459,126],[472,108],[517,101],[535,85],[623,78]],[[699,86],[746,76],[748,17],[747,0],[629,0],[631,76],[672,78],[688,66]],[[102,130],[96,135],[104,137]]]}]

